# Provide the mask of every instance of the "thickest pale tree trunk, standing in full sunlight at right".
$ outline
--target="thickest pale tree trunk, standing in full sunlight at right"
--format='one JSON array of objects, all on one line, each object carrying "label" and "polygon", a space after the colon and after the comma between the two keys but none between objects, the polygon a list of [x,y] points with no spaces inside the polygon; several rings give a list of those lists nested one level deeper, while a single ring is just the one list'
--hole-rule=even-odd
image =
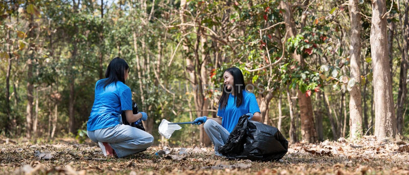
[{"label": "thickest pale tree trunk, standing in full sunlight at right", "polygon": [[396,136],[396,115],[393,106],[392,80],[389,73],[387,47],[386,0],[372,1],[371,56],[375,107],[375,136]]}]

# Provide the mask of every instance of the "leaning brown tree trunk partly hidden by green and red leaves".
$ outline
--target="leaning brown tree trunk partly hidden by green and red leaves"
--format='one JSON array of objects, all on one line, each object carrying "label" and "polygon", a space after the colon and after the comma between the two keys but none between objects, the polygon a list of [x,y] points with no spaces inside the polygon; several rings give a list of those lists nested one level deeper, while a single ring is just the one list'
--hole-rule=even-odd
[{"label": "leaning brown tree trunk partly hidden by green and red leaves", "polygon": [[[294,18],[292,16],[291,5],[288,2],[280,2],[281,9],[285,10],[284,21],[285,28],[288,31],[288,36],[293,37],[297,35],[295,28]],[[297,60],[301,67],[305,66],[304,59],[296,51],[292,54],[295,60]],[[318,140],[317,132],[315,131],[314,115],[312,113],[311,98],[306,96],[300,90],[298,91],[298,105],[300,108],[301,116],[301,135],[304,141],[315,142]]]}]

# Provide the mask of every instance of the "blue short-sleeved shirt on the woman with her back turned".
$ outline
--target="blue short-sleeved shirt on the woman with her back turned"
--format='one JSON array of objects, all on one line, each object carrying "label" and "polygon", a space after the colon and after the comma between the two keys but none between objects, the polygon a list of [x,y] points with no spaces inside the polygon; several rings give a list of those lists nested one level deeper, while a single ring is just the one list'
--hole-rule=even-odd
[{"label": "blue short-sleeved shirt on the woman with her back turned", "polygon": [[[87,130],[93,131],[119,124],[119,114],[123,110],[132,110],[132,93],[130,88],[117,81],[103,88],[106,79],[97,81],[95,85],[94,105],[87,123]],[[101,82],[101,85],[98,83]]]}]

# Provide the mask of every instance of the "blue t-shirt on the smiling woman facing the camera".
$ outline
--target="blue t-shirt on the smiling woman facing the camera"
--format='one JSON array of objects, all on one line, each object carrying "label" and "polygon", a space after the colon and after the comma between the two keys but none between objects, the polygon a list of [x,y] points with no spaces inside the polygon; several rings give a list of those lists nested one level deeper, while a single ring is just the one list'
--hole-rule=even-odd
[{"label": "blue t-shirt on the smiling woman facing the camera", "polygon": [[227,101],[226,108],[217,111],[217,115],[222,117],[222,126],[226,128],[227,131],[233,131],[238,123],[238,119],[243,114],[260,112],[258,108],[256,96],[243,90],[243,103],[239,107],[236,107],[236,101],[234,101],[234,95],[229,94],[229,99]]}]

